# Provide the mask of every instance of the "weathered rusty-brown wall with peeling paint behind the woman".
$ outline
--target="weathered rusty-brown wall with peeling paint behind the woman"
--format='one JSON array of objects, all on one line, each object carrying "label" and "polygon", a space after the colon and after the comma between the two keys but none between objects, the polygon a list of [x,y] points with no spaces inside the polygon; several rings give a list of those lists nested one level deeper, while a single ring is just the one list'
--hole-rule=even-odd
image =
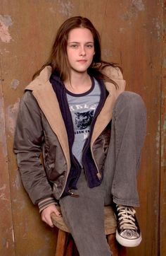
[{"label": "weathered rusty-brown wall with peeling paint behind the woman", "polygon": [[51,256],[55,252],[56,229],[41,222],[20,182],[13,133],[23,89],[48,57],[59,25],[76,15],[87,16],[96,25],[103,59],[122,66],[127,90],[141,94],[147,106],[137,211],[143,242],[129,249],[128,255],[156,256],[159,248],[160,255],[166,254],[165,8],[161,0],[1,0],[0,255]]}]

